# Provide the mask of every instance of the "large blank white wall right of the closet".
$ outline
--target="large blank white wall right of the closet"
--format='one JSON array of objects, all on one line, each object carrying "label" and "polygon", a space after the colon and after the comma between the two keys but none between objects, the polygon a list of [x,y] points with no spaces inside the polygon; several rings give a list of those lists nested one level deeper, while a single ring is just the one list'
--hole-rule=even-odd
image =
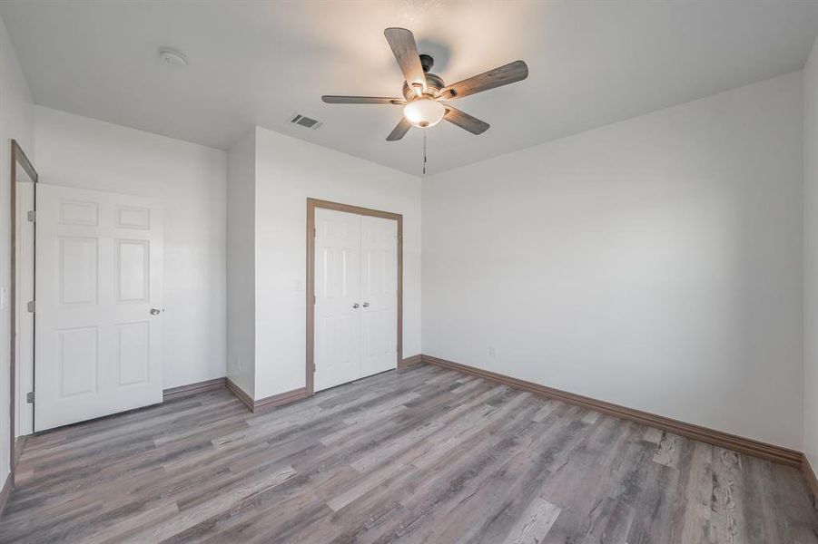
[{"label": "large blank white wall right of the closet", "polygon": [[801,85],[425,179],[423,352],[800,449]]}]

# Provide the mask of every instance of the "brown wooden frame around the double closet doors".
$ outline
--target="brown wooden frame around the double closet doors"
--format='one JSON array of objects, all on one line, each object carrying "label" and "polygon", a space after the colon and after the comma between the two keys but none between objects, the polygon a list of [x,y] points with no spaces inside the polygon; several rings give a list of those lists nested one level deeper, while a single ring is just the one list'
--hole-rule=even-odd
[{"label": "brown wooden frame around the double closet doors", "polygon": [[396,365],[403,356],[403,216],[379,209],[361,208],[329,200],[307,199],[307,396],[315,394],[315,209],[334,209],[361,216],[398,221],[398,346]]}]

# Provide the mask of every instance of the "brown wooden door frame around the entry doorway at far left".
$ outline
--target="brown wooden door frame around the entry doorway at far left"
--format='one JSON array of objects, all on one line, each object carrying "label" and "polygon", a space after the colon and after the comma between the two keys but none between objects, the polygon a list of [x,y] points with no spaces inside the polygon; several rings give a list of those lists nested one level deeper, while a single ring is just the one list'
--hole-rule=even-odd
[{"label": "brown wooden door frame around the entry doorway at far left", "polygon": [[[17,384],[16,384],[16,369],[17,369],[17,354],[16,354],[16,334],[17,334],[17,165],[19,164],[25,170],[25,173],[28,174],[28,177],[34,182],[34,209],[36,209],[37,203],[37,172],[34,170],[34,166],[31,163],[31,160],[28,160],[28,157],[25,155],[25,151],[23,148],[20,147],[20,144],[17,143],[16,140],[11,141],[11,160],[9,160],[11,164],[11,198],[10,198],[10,214],[9,217],[11,218],[11,277],[9,278],[9,285],[11,286],[10,293],[9,293],[9,345],[10,345],[10,352],[9,352],[9,367],[10,367],[10,382],[8,384],[9,390],[9,403],[11,406],[11,410],[9,411],[9,432],[11,434],[9,439],[10,449],[9,452],[9,476],[11,478],[11,483],[14,486],[15,484],[15,457],[16,457],[16,437],[15,437],[15,415],[16,411],[16,392],[17,392]],[[34,224],[34,228],[36,229],[36,224]],[[36,244],[36,237],[34,238],[34,244]],[[32,274],[34,274],[36,265],[34,265],[34,269],[32,269]],[[34,289],[36,289],[36,285],[34,285]],[[34,338],[32,338],[34,340]]]}]

